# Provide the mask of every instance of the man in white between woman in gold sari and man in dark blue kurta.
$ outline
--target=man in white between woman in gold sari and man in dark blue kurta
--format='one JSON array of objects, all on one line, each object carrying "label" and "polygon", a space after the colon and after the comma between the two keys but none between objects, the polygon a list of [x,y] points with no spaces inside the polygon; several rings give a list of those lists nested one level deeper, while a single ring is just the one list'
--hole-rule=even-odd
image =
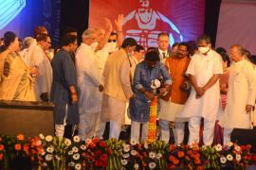
[{"label": "man in white between woman in gold sari and man in dark blue kurta", "polygon": [[37,45],[33,47],[30,58],[31,67],[37,67],[39,76],[35,80],[35,93],[37,101],[48,101],[52,83],[52,68],[46,50],[51,46],[48,35],[38,35]]}]

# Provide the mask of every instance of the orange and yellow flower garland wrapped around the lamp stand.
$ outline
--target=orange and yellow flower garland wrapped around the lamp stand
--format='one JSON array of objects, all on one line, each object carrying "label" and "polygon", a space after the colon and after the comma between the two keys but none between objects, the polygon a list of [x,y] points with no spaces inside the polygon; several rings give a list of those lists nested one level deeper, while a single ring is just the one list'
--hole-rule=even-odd
[{"label": "orange and yellow flower garland wrapped around the lamp stand", "polygon": [[157,117],[157,97],[155,96],[150,104],[150,118],[148,127],[148,143],[156,140],[156,117]]}]

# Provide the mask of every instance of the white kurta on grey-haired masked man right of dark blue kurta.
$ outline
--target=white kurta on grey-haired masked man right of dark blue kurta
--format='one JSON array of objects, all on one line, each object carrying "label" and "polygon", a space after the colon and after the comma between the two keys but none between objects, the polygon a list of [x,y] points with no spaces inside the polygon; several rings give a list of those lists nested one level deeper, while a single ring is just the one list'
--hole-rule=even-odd
[{"label": "white kurta on grey-haired masked man right of dark blue kurta", "polygon": [[103,82],[95,59],[96,54],[93,48],[82,43],[76,53],[80,113],[101,111],[102,93],[99,92],[99,86]]}]

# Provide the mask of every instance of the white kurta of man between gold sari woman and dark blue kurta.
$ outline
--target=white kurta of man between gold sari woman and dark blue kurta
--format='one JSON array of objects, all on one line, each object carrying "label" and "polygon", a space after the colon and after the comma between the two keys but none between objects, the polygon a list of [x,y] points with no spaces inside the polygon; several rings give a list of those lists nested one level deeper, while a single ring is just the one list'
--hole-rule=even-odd
[{"label": "white kurta of man between gold sari woman and dark blue kurta", "polygon": [[35,81],[35,93],[38,101],[42,101],[40,95],[42,93],[48,93],[50,96],[50,89],[52,83],[52,68],[49,58],[46,56],[46,52],[42,47],[36,45],[33,47],[33,51],[30,58],[30,64],[38,66],[39,76]]}]

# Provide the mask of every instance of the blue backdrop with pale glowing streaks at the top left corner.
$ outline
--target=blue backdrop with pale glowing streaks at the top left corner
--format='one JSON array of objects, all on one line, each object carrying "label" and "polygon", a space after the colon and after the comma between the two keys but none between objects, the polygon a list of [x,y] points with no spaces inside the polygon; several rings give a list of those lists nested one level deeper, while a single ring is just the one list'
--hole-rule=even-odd
[{"label": "blue backdrop with pale glowing streaks at the top left corner", "polygon": [[46,26],[52,42],[59,42],[61,0],[0,0],[0,37],[6,31],[21,39],[33,36],[36,26]]}]

